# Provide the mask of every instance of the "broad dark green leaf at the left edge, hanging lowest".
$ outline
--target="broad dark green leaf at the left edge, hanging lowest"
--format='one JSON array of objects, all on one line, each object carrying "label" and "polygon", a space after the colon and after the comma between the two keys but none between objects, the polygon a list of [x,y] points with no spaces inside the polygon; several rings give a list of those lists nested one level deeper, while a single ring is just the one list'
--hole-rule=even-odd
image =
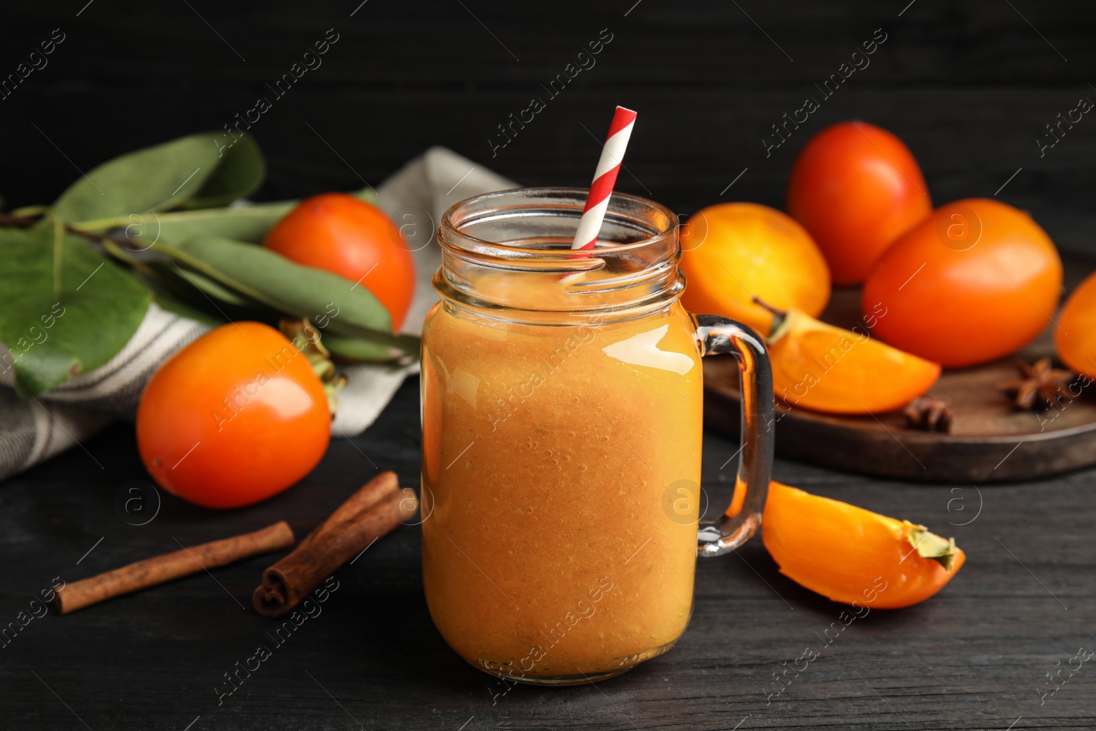
[{"label": "broad dark green leaf at the left edge, hanging lowest", "polygon": [[53,226],[0,229],[0,341],[11,350],[15,391],[33,397],[105,364],[137,331],[150,300],[132,274],[73,236],[60,241],[54,297]]}]

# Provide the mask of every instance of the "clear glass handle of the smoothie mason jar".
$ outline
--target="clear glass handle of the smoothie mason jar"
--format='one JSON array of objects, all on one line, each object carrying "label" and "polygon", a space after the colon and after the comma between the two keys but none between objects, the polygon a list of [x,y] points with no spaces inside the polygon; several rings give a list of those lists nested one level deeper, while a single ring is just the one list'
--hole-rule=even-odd
[{"label": "clear glass handle of the smoothie mason jar", "polygon": [[704,355],[730,353],[738,357],[742,391],[742,448],[734,495],[744,490],[745,501],[734,516],[700,521],[696,550],[698,556],[709,557],[734,550],[761,527],[773,472],[773,368],[765,343],[750,328],[715,315],[694,317]]}]

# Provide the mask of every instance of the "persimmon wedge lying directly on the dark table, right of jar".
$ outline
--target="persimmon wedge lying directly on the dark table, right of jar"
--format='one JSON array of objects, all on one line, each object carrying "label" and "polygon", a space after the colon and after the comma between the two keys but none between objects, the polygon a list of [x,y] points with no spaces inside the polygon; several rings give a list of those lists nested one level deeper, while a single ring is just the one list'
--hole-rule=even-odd
[{"label": "persimmon wedge lying directly on the dark table, right of jar", "polygon": [[780,573],[834,602],[907,607],[940,591],[967,560],[923,525],[769,483],[762,538]]}]

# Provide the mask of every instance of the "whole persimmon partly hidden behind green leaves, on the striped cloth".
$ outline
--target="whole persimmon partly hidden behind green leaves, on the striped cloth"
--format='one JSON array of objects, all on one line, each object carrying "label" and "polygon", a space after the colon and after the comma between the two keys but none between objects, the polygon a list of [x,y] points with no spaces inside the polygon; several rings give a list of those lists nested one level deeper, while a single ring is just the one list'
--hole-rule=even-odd
[{"label": "whole persimmon partly hidden behind green leaves, on the striped cloth", "polygon": [[399,332],[414,297],[414,259],[396,224],[377,206],[345,193],[307,198],[274,225],[263,245],[367,288]]}]

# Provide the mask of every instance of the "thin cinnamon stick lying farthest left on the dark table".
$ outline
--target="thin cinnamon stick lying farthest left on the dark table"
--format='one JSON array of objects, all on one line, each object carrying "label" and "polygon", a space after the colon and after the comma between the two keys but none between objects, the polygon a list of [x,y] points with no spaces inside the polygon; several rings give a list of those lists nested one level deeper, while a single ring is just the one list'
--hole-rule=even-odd
[{"label": "thin cinnamon stick lying farthest left on the dark table", "polygon": [[288,548],[293,546],[293,529],[288,523],[282,521],[262,530],[183,548],[66,584],[57,592],[55,602],[61,614],[68,614],[114,596],[156,586],[205,569]]}]

